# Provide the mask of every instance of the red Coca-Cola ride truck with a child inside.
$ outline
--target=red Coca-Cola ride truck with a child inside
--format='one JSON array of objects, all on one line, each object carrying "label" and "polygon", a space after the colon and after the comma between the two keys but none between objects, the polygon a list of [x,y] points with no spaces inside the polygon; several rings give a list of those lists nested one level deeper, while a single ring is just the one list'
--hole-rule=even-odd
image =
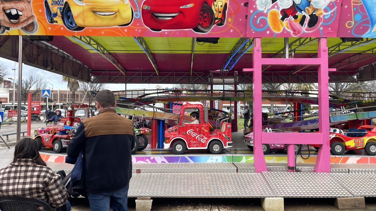
[{"label": "red Coca-Cola ride truck with a child inside", "polygon": [[[198,112],[199,124],[190,124],[184,114]],[[232,147],[231,120],[229,116],[218,118],[220,129],[213,129],[208,122],[208,108],[200,102],[185,102],[178,118],[178,124],[165,130],[164,149],[182,155],[186,149],[208,149],[212,154],[220,154],[223,148]],[[229,121],[230,122],[230,121]]]}]

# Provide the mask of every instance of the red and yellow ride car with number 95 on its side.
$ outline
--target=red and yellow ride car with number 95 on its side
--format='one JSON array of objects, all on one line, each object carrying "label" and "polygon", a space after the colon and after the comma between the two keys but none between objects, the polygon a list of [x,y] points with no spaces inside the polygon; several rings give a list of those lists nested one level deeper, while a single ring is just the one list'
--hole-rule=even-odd
[{"label": "red and yellow ride car with number 95 on its side", "polygon": [[[330,147],[333,155],[343,155],[345,150],[363,150],[368,155],[376,155],[376,125],[363,125],[358,129],[350,128],[348,132],[331,129]],[[311,144],[318,149],[319,145]]]}]

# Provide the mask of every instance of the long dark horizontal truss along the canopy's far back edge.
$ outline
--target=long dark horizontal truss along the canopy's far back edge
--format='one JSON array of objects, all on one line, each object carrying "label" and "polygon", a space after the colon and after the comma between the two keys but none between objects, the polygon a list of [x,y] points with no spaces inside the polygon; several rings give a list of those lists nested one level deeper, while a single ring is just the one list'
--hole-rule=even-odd
[{"label": "long dark horizontal truss along the canopy's far back edge", "polygon": [[[113,71],[96,71],[99,75],[92,76],[96,83],[197,83],[210,84],[212,79],[221,78],[221,74],[209,72],[170,72],[164,74],[156,74],[150,71],[128,71],[126,75],[115,73]],[[356,73],[356,71],[355,71]],[[354,71],[338,71],[329,73],[331,82],[347,81],[356,82]],[[234,73],[237,83],[250,83],[252,81],[252,73]],[[317,82],[317,74],[314,71],[303,70],[298,75],[287,74],[280,71],[268,71],[262,73],[263,83],[305,83]]]}]

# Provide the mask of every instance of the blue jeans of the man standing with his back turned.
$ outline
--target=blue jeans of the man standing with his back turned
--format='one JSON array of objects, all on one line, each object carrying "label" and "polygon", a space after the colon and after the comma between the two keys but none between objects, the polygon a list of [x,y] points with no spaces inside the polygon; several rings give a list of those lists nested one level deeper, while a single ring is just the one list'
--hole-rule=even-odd
[{"label": "blue jeans of the man standing with his back turned", "polygon": [[107,193],[89,193],[90,211],[109,211],[110,203],[114,211],[128,211],[128,188]]}]

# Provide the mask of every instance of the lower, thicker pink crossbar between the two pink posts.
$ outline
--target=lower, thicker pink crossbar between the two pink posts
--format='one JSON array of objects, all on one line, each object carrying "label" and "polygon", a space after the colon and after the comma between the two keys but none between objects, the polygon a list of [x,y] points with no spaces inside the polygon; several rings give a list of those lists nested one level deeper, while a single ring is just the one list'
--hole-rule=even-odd
[{"label": "lower, thicker pink crossbar between the two pink posts", "polygon": [[262,133],[262,143],[263,144],[323,144],[323,134],[321,133],[278,133],[278,132]]}]

